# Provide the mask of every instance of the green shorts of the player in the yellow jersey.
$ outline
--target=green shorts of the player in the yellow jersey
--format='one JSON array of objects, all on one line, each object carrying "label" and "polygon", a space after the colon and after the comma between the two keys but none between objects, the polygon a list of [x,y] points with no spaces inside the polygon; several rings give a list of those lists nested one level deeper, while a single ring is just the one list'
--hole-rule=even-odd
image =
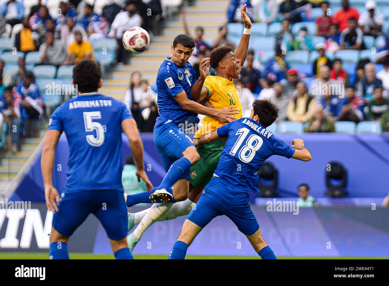
[{"label": "green shorts of the player in the yellow jersey", "polygon": [[205,187],[209,183],[217,163],[219,163],[220,154],[225,144],[226,142],[223,140],[217,139],[204,145],[201,149],[197,149],[200,160],[190,168],[191,179],[189,182],[192,187],[198,185]]}]

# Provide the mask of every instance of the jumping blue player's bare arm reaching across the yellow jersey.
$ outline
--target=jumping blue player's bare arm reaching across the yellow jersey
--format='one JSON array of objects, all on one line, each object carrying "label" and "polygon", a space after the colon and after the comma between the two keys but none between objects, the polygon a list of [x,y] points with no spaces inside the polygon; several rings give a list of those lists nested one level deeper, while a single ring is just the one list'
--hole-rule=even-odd
[{"label": "jumping blue player's bare arm reaching across the yellow jersey", "polygon": [[238,114],[239,109],[232,109],[232,108],[223,108],[220,110],[212,109],[209,107],[206,107],[202,104],[199,104],[193,100],[190,100],[185,91],[181,91],[179,94],[174,96],[174,99],[178,102],[179,105],[181,105],[182,109],[193,111],[199,114],[207,115],[216,117],[222,121],[231,122],[236,120],[237,118],[232,116],[233,114]]}]

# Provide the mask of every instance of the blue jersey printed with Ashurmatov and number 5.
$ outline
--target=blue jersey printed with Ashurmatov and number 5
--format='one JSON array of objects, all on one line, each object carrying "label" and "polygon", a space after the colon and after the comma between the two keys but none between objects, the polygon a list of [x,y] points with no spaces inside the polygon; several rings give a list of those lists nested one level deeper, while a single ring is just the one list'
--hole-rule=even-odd
[{"label": "blue jersey printed with Ashurmatov and number 5", "polygon": [[65,132],[69,160],[65,191],[117,189],[121,184],[121,122],[133,118],[126,105],[98,93],[70,98],[47,130]]}]

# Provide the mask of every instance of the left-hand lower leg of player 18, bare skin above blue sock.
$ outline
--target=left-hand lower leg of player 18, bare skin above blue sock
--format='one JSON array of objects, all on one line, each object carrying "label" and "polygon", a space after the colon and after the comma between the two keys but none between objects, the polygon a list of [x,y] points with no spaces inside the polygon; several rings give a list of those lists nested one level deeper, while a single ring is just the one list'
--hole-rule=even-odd
[{"label": "left-hand lower leg of player 18, bare skin above blue sock", "polygon": [[170,251],[168,259],[185,259],[189,245],[202,228],[189,219],[185,219],[180,235]]}]

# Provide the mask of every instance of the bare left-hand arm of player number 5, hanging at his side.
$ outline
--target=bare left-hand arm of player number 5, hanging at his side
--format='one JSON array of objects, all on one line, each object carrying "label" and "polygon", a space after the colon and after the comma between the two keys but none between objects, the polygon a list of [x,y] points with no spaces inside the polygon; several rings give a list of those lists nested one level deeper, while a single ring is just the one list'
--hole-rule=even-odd
[{"label": "bare left-hand arm of player number 5, hanging at his side", "polygon": [[47,130],[42,157],[40,158],[40,168],[42,169],[43,184],[45,188],[46,206],[49,211],[58,212],[56,203],[60,202],[58,191],[53,186],[53,165],[55,158],[55,148],[61,133],[58,130]]}]

